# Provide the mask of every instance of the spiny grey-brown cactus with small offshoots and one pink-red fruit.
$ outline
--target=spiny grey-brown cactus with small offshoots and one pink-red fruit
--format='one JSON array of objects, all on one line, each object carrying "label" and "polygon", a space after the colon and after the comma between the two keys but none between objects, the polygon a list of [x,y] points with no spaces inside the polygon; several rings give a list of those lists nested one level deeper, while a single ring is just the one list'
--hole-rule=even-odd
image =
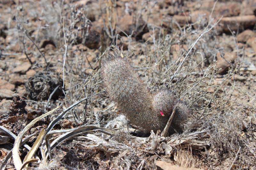
[{"label": "spiny grey-brown cactus with small offshoots and one pink-red fruit", "polygon": [[177,100],[172,92],[167,89],[155,94],[148,92],[128,59],[117,53],[105,56],[101,64],[103,82],[110,98],[132,124],[146,133],[163,130],[176,107],[170,131],[184,130],[189,108]]}]

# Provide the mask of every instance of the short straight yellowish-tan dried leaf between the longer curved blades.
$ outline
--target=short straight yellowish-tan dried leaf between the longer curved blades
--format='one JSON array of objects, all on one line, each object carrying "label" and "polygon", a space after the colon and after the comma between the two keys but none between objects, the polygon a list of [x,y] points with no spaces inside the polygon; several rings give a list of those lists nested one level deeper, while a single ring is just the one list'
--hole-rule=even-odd
[{"label": "short straight yellowish-tan dried leaf between the longer curved blades", "polygon": [[[39,133],[39,135],[38,135],[38,137],[36,139],[36,142],[33,144],[33,146],[31,147],[30,151],[25,156],[25,158],[23,160],[23,165],[26,163],[26,161],[28,161],[29,159],[31,159],[34,156],[34,154],[36,153],[36,150],[38,149],[39,145],[43,141],[43,137],[44,137],[45,133],[46,133],[46,130],[42,129],[42,131]],[[25,167],[27,168],[28,165],[26,165]]]}]

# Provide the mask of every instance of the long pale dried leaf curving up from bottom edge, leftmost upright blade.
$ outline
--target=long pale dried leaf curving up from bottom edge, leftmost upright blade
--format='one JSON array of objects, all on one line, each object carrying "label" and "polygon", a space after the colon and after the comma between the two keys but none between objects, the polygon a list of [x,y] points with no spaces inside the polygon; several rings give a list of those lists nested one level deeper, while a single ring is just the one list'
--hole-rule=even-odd
[{"label": "long pale dried leaf curving up from bottom edge, leftmost upright blade", "polygon": [[56,107],[55,109],[45,113],[44,115],[41,115],[37,118],[35,118],[32,122],[28,123],[27,126],[25,126],[24,129],[22,129],[19,133],[19,135],[17,136],[15,142],[14,142],[14,146],[12,149],[12,158],[13,158],[13,163],[14,166],[17,170],[20,170],[22,167],[22,162],[20,159],[20,155],[19,155],[19,149],[20,149],[20,143],[22,138],[24,137],[24,135],[27,133],[27,131],[36,123],[38,122],[40,119],[44,118],[45,116],[48,116],[50,114],[52,114],[53,112],[55,112],[57,109],[59,109],[60,106]]}]

